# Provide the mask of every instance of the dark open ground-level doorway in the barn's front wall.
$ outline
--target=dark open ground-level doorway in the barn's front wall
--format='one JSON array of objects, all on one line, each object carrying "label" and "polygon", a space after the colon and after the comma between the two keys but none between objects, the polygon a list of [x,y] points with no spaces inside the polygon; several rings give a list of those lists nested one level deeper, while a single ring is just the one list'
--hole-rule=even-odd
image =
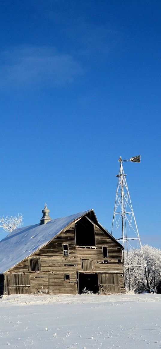
[{"label": "dark open ground-level doorway in the barn's front wall", "polygon": [[87,290],[95,294],[99,291],[98,274],[78,273],[78,280],[79,294],[83,293],[83,290]]}]

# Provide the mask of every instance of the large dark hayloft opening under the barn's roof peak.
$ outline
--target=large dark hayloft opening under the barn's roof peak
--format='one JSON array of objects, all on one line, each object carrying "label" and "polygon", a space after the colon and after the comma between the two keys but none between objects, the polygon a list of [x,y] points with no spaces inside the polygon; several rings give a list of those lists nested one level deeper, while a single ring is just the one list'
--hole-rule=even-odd
[{"label": "large dark hayloft opening under the barn's roof peak", "polygon": [[94,224],[87,217],[75,223],[75,245],[95,246]]}]

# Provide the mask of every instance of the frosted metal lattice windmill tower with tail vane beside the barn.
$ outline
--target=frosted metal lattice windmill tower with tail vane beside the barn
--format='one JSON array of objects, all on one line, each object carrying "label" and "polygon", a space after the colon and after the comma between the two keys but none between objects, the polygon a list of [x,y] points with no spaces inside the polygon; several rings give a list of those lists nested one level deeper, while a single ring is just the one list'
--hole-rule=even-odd
[{"label": "frosted metal lattice windmill tower with tail vane beside the barn", "polygon": [[[140,163],[140,155],[130,158],[130,160],[122,160],[120,156],[120,170],[118,177],[118,184],[116,190],[114,216],[112,221],[111,234],[115,236],[117,240],[120,240],[125,250],[123,250],[123,266],[124,271],[127,270],[129,279],[129,291],[130,291],[130,269],[136,267],[144,267],[147,272],[146,261],[141,246],[139,237],[139,231],[134,216],[134,211],[131,204],[129,189],[126,182],[126,174],[123,170],[123,162],[131,161]],[[121,237],[120,237],[121,236]],[[140,248],[142,252],[141,263],[138,265],[131,265],[129,261],[129,251],[131,248]],[[126,260],[125,260],[126,251]]]}]

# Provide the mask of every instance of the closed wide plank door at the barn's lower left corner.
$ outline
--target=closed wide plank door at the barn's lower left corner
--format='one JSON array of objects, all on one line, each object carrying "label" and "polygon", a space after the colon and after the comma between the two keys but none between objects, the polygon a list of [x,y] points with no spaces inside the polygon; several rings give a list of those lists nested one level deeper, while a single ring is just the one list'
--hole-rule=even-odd
[{"label": "closed wide plank door at the barn's lower left corner", "polygon": [[8,295],[30,294],[29,273],[6,274],[6,286]]}]

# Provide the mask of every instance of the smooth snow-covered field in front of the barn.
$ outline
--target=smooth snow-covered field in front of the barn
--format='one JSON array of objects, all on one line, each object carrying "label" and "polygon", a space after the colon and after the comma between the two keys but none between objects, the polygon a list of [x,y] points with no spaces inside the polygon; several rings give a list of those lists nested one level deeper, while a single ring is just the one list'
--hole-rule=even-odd
[{"label": "smooth snow-covered field in front of the barn", "polygon": [[161,295],[3,296],[0,348],[161,348]]}]

